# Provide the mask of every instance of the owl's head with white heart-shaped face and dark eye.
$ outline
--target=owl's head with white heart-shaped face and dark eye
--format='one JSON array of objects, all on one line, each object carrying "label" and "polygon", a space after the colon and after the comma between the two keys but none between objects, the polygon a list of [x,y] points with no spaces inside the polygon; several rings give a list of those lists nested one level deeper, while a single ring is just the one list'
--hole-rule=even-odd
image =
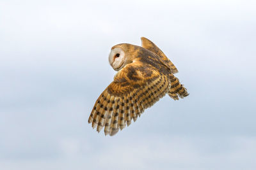
[{"label": "owl's head with white heart-shaped face and dark eye", "polygon": [[111,48],[109,53],[109,64],[115,71],[119,71],[126,64],[130,64],[136,58],[136,49],[134,45],[120,44]]}]

